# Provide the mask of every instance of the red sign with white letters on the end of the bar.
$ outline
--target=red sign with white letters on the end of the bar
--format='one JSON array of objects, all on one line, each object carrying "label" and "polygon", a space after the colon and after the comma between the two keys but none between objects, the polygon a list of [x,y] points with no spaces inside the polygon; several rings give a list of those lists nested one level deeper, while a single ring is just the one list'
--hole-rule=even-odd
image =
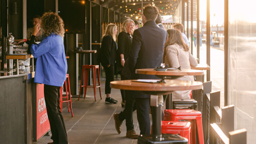
[{"label": "red sign with white letters on the end of the bar", "polygon": [[44,84],[36,84],[36,139],[50,130],[50,123],[44,99]]}]

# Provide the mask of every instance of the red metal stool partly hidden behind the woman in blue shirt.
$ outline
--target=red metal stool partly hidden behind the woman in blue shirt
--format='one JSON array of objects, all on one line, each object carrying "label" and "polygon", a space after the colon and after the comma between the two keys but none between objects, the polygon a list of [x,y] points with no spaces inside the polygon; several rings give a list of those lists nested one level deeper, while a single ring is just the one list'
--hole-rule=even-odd
[{"label": "red metal stool partly hidden behind the woman in blue shirt", "polygon": [[[67,80],[68,80],[68,87],[67,87]],[[72,117],[74,117],[73,111],[72,111],[71,94],[70,94],[70,83],[69,83],[69,75],[68,74],[67,74],[67,78],[65,80],[65,86],[66,86],[66,96],[63,97],[62,87],[60,89],[60,91],[61,91],[61,94],[60,94],[60,110],[62,112],[62,103],[67,102],[67,104],[68,104],[68,102],[70,102],[71,114],[72,114]],[[68,89],[68,91],[67,91],[67,89]],[[69,97],[69,100],[68,100],[68,97]],[[67,98],[67,100],[63,101],[63,98]],[[68,112],[70,112],[70,109],[69,109],[69,106],[68,106]]]}]

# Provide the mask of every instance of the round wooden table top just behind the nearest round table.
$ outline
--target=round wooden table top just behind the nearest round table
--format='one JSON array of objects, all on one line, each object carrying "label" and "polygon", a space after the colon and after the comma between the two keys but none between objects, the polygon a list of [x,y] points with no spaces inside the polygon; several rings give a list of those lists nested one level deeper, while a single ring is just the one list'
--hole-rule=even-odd
[{"label": "round wooden table top just behind the nearest round table", "polygon": [[154,69],[136,69],[137,74],[148,74],[148,75],[165,75],[165,76],[188,76],[188,75],[203,75],[202,70],[191,70],[191,69],[181,69],[181,70],[166,70],[166,71],[156,71]]}]

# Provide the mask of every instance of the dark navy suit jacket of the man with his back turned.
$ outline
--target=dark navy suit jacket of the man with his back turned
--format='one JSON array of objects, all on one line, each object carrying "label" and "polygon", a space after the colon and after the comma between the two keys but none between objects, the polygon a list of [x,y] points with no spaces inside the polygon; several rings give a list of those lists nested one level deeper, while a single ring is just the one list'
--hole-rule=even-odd
[{"label": "dark navy suit jacket of the man with his back turned", "polygon": [[[154,75],[135,74],[136,69],[159,67],[162,63],[164,43],[167,32],[159,28],[155,21],[148,21],[143,27],[133,32],[131,50],[129,53],[129,69],[131,79],[158,79]],[[133,91],[131,96],[149,98],[150,95]]]}]

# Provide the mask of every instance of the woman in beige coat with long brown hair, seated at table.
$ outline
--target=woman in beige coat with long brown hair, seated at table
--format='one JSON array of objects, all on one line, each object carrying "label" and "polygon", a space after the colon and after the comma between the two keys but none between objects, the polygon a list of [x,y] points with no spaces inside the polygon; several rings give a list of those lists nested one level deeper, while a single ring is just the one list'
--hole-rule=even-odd
[{"label": "woman in beige coat with long brown hair, seated at table", "polygon": [[[190,54],[189,47],[183,41],[181,33],[176,29],[167,30],[168,38],[165,42],[163,63],[168,64],[171,68],[190,69],[197,66],[196,59]],[[193,76],[183,76],[178,80],[194,81]],[[174,99],[189,99],[191,90],[174,91]]]}]

